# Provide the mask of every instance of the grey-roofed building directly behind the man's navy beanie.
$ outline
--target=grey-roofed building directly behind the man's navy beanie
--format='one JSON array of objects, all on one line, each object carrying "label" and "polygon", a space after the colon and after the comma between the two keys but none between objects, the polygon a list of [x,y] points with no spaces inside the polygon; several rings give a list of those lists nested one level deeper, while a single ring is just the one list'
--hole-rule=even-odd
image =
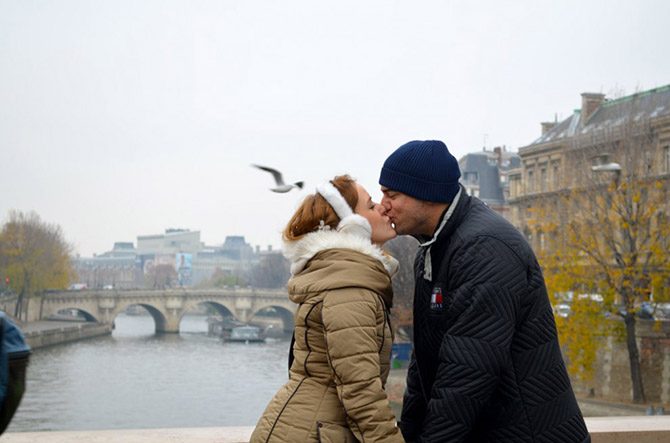
[{"label": "grey-roofed building directly behind the man's navy beanie", "polygon": [[507,216],[508,173],[520,166],[519,156],[508,152],[503,146],[496,147],[493,151],[483,150],[467,154],[458,164],[461,168],[460,181],[467,193]]}]

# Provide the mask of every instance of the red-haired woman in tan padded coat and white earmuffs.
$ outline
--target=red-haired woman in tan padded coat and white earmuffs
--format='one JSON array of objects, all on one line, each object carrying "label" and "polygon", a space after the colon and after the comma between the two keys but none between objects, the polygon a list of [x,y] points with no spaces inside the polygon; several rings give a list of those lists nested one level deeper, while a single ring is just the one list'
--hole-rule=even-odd
[{"label": "red-haired woman in tan padded coat and white earmuffs", "polygon": [[298,304],[289,381],[251,442],[402,442],[384,384],[398,264],[381,205],[349,176],[305,198],[284,230],[290,299]]}]

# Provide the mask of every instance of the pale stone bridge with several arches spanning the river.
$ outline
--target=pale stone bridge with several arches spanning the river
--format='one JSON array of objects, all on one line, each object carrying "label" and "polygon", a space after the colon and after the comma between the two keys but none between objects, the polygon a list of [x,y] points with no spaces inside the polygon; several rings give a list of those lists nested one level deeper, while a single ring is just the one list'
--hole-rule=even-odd
[{"label": "pale stone bridge with several arches spanning the river", "polygon": [[129,306],[144,307],[154,319],[156,332],[179,332],[184,314],[199,305],[207,305],[222,316],[241,322],[251,321],[260,311],[278,314],[284,330],[293,328],[296,306],[286,290],[272,289],[168,289],[168,290],[101,290],[49,291],[32,298],[27,321],[46,320],[64,310],[77,310],[88,321],[112,323]]}]

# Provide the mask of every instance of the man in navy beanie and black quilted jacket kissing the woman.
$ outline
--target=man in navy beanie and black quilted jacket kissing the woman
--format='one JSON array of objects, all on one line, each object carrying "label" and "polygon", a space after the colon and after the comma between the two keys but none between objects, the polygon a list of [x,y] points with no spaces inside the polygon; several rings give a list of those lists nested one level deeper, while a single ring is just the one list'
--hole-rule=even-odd
[{"label": "man in navy beanie and black quilted jacket kissing the woman", "polygon": [[523,236],[460,186],[440,141],[386,160],[382,205],[419,242],[400,428],[420,442],[589,442]]}]

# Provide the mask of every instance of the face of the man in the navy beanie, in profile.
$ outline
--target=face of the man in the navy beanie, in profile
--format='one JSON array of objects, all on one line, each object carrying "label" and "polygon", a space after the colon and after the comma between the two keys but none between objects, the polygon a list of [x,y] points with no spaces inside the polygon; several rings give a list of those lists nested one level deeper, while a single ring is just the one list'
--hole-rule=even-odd
[{"label": "face of the man in the navy beanie, in profile", "polygon": [[385,186],[381,204],[398,235],[431,235],[435,226],[428,220],[428,204]]}]

